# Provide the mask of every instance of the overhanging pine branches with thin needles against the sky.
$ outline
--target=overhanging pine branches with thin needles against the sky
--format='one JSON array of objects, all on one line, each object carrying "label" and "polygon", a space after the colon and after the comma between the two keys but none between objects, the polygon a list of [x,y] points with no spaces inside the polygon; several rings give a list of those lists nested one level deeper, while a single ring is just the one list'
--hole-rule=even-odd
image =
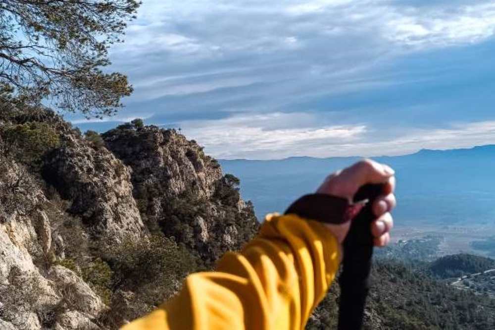
[{"label": "overhanging pine branches with thin needles against the sky", "polygon": [[108,49],[122,42],[138,0],[0,0],[0,96],[101,117],[132,92],[107,73]]}]

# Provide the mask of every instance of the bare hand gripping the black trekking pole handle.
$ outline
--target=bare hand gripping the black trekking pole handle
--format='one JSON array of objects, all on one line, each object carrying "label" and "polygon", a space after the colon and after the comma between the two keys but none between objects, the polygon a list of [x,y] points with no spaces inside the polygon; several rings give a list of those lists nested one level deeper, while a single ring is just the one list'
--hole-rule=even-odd
[{"label": "bare hand gripping the black trekking pole handle", "polygon": [[[347,198],[349,202],[352,202],[353,196],[361,186],[367,183],[384,184],[383,195],[373,203],[373,213],[377,219],[371,223],[373,242],[375,246],[382,247],[389,244],[390,230],[394,225],[394,220],[390,214],[390,211],[396,207],[394,196],[396,178],[394,173],[394,170],[388,165],[366,159],[329,175],[317,192]],[[350,221],[342,224],[325,225],[332,231],[339,243],[342,243],[349,231]]]}]

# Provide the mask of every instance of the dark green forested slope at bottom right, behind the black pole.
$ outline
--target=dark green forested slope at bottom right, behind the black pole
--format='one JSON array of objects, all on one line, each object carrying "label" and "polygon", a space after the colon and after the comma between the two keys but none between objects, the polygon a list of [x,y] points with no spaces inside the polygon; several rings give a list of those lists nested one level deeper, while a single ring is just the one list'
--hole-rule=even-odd
[{"label": "dark green forested slope at bottom right, behind the black pole", "polygon": [[[336,283],[306,329],[335,329]],[[365,329],[494,329],[495,300],[458,290],[394,260],[376,261]]]}]

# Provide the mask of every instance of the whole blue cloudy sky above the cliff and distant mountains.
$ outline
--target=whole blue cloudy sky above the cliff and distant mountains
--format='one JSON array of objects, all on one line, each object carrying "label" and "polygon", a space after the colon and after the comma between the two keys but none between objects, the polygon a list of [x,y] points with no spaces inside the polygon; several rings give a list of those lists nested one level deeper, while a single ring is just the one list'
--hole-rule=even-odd
[{"label": "whole blue cloudy sky above the cliff and distant mountains", "polygon": [[140,117],[219,159],[495,144],[495,1],[144,0],[110,69]]}]

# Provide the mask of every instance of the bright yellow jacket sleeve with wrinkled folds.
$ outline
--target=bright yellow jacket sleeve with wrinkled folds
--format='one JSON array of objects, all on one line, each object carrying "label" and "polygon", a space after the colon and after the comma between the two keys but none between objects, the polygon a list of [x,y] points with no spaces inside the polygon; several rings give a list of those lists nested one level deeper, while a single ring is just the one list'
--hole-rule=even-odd
[{"label": "bright yellow jacket sleeve with wrinkled folds", "polygon": [[215,272],[189,275],[177,296],[124,330],[303,329],[340,263],[323,224],[269,215],[240,253]]}]

